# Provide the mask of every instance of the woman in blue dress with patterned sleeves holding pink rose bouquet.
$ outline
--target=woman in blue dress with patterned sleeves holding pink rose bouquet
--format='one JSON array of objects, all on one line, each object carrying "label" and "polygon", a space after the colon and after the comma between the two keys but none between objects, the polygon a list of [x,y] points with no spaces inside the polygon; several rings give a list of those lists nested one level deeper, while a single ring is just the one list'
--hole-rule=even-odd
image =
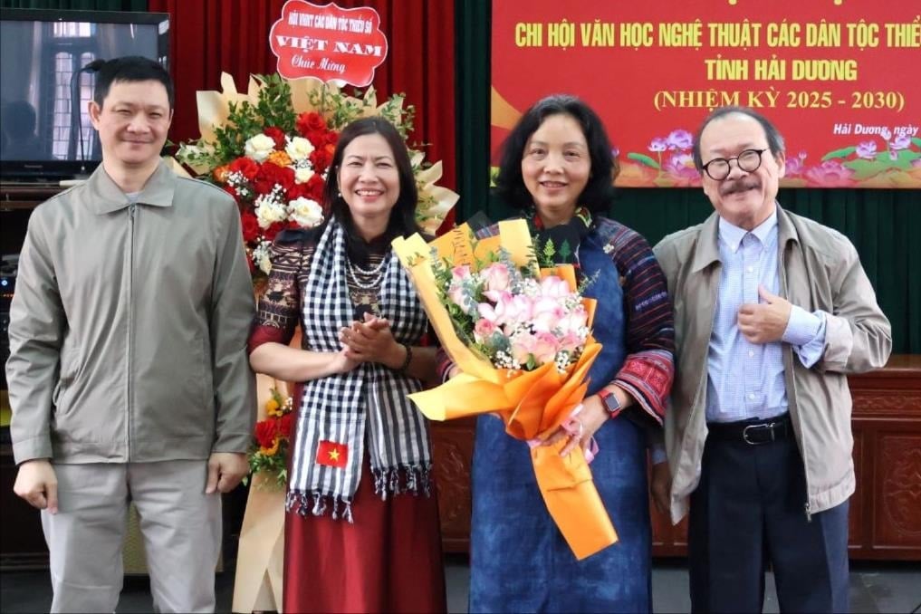
[{"label": "woman in blue dress with patterned sleeves holding pink rose bouquet", "polygon": [[[551,96],[508,135],[496,180],[521,210],[539,253],[572,263],[598,299],[595,338],[577,429],[562,428],[561,454],[600,452],[590,468],[620,540],[577,561],[538,490],[526,442],[494,416],[477,422],[472,465],[470,610],[643,611],[652,609],[647,440],[660,429],[673,377],[674,330],[665,278],[646,239],[603,217],[616,165],[600,119],[577,98]],[[551,247],[552,244],[552,247]],[[543,263],[542,263],[543,264]],[[447,367],[448,365],[446,365]],[[657,503],[667,466],[654,450]]]}]

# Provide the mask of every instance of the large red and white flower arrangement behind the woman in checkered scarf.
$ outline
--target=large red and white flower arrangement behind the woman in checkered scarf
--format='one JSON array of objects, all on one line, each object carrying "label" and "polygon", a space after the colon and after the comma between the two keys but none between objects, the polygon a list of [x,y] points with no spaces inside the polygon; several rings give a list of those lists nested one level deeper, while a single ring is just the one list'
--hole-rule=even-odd
[{"label": "large red and white flower arrangement behind the woman in checkered scarf", "polygon": [[[279,75],[254,75],[249,91],[238,93],[233,77],[221,75],[223,92],[198,92],[202,133],[183,143],[176,159],[196,175],[227,191],[237,201],[253,281],[268,275],[269,246],[286,228],[309,228],[323,221],[323,188],[339,131],[361,117],[380,115],[406,138],[413,129],[414,108],[402,96],[379,105],[373,87],[360,98],[318,79],[287,81]],[[410,149],[419,203],[416,217],[427,233],[436,234],[458,200],[435,185],[441,162],[429,165],[422,152]],[[180,164],[178,172],[188,174]]]}]

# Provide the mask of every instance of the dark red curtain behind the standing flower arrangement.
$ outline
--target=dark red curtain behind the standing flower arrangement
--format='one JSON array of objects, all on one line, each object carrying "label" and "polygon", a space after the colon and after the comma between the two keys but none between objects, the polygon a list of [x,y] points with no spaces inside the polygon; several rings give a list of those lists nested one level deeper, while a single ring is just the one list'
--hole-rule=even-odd
[{"label": "dark red curtain behind the standing flower arrangement", "polygon": [[[170,71],[176,82],[173,141],[198,137],[195,92],[220,89],[221,72],[233,75],[241,91],[251,74],[275,72],[269,29],[281,17],[284,4],[285,0],[149,0],[148,10],[170,16]],[[378,11],[390,46],[374,78],[378,100],[392,93],[406,94],[416,110],[411,142],[427,144],[426,159],[444,163],[439,183],[455,188],[454,2],[338,0],[336,4]]]}]

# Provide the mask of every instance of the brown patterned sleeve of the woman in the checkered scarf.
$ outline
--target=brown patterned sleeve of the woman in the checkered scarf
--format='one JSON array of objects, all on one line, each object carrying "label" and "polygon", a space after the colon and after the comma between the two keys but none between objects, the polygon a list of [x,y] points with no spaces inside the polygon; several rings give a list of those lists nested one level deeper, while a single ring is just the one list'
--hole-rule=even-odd
[{"label": "brown patterned sleeve of the woman in the checkered scarf", "polygon": [[276,238],[270,251],[272,272],[259,299],[248,349],[262,343],[291,342],[300,319],[300,288],[307,278],[312,245],[304,240]]}]

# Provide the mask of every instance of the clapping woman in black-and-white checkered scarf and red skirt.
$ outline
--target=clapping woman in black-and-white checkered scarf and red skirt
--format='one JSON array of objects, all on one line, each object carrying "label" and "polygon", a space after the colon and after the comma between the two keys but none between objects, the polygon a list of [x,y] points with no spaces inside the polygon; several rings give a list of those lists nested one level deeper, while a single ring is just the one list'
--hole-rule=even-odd
[{"label": "clapping woman in black-and-white checkered scarf and red skirt", "polygon": [[[371,117],[339,137],[327,224],[286,231],[252,368],[303,383],[286,496],[284,611],[445,611],[428,426],[406,395],[435,375],[426,314],[391,253],[418,232],[409,156]],[[300,349],[288,346],[297,324]]]}]

